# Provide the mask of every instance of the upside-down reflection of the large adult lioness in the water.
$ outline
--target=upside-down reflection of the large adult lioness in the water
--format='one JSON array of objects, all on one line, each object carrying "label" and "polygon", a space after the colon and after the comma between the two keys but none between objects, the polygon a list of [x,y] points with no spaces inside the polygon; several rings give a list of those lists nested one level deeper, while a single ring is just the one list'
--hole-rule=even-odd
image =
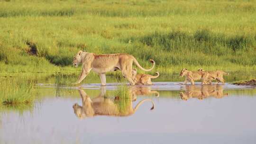
[{"label": "upside-down reflection of the large adult lioness in the water", "polygon": [[74,113],[79,118],[94,117],[94,116],[117,116],[124,117],[134,114],[139,106],[145,101],[152,103],[154,109],[154,102],[151,99],[143,99],[138,102],[137,106],[133,108],[132,95],[129,98],[111,99],[104,98],[106,93],[105,87],[101,87],[101,93],[98,97],[91,99],[86,92],[79,89],[80,96],[82,98],[82,106],[75,103],[73,105]]}]

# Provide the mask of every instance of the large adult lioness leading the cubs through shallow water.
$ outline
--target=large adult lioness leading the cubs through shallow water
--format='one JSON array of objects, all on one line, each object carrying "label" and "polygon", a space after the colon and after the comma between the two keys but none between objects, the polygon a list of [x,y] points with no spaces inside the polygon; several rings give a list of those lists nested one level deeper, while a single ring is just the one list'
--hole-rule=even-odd
[{"label": "large adult lioness leading the cubs through shallow water", "polygon": [[78,66],[82,63],[82,72],[75,84],[80,83],[92,70],[99,74],[101,79],[101,85],[106,85],[106,72],[120,70],[122,75],[129,81],[131,85],[135,85],[132,79],[132,63],[135,63],[143,71],[151,71],[155,66],[155,61],[150,60],[153,63],[152,68],[144,69],[137,62],[136,58],[130,54],[100,54],[87,53],[79,51],[73,58],[73,65]]}]

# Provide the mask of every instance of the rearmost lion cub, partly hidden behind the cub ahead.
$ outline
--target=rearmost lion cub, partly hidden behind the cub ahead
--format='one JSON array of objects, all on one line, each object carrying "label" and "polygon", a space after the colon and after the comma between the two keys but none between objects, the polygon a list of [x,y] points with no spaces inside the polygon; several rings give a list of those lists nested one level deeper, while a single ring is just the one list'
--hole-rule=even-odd
[{"label": "rearmost lion cub, partly hidden behind the cub ahead", "polygon": [[[202,68],[198,69],[197,71],[205,72]],[[223,71],[212,71],[212,72],[208,72],[208,73],[209,73],[210,84],[211,84],[212,80],[216,80],[217,84],[219,82],[222,82],[224,84],[223,75],[229,75],[229,73],[223,72]]]}]

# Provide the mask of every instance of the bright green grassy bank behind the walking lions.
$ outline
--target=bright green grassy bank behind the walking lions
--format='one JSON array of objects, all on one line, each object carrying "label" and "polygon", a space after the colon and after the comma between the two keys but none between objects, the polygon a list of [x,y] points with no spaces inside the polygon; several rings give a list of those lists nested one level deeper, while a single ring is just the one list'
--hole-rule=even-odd
[{"label": "bright green grassy bank behind the walking lions", "polygon": [[[0,1],[0,74],[77,74],[78,50],[128,53],[144,67],[249,75],[256,70],[255,1]],[[110,73],[119,77],[119,73]]]}]

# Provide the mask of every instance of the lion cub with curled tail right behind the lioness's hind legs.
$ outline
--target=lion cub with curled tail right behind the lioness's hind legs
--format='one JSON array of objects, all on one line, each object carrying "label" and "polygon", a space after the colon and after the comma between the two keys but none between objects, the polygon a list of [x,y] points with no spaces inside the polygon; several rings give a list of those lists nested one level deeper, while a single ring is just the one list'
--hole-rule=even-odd
[{"label": "lion cub with curled tail right behind the lioness's hind legs", "polygon": [[159,72],[155,72],[157,75],[153,76],[150,74],[137,74],[137,69],[132,69],[132,78],[136,84],[152,85],[151,79],[159,77]]}]

